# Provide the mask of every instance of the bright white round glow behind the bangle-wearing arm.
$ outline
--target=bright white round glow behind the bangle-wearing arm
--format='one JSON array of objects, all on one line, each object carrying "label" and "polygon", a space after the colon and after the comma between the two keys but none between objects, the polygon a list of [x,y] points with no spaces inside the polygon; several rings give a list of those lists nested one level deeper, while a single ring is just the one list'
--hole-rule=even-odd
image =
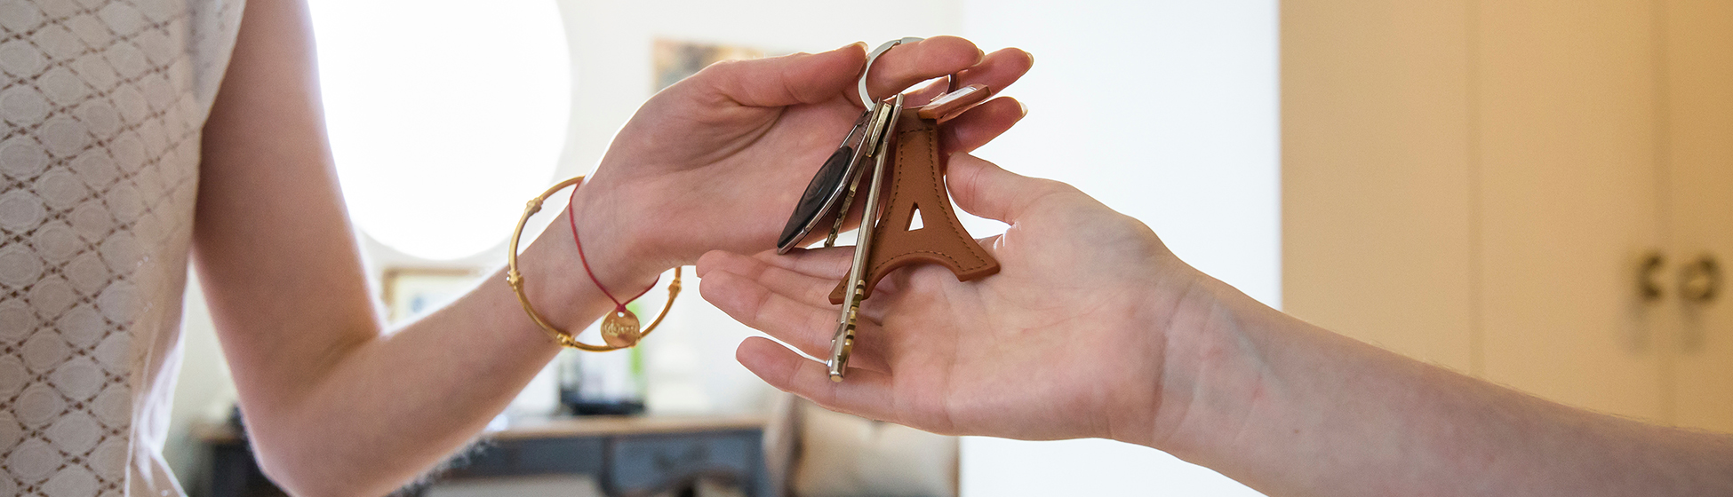
[{"label": "bright white round glow behind the bangle-wearing arm", "polygon": [[497,246],[553,177],[570,59],[553,0],[312,0],[343,199],[428,260]]}]

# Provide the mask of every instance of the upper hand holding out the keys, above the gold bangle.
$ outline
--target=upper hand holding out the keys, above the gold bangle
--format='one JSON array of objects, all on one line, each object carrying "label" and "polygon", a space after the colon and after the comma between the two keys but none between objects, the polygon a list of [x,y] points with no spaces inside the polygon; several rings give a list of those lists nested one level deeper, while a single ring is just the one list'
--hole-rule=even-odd
[{"label": "upper hand holding out the keys, above the gold bangle", "polygon": [[[775,246],[806,184],[863,111],[856,81],[865,57],[856,43],[730,61],[652,97],[577,194],[574,211],[591,261],[646,279],[709,249]],[[882,99],[958,74],[962,85],[998,92],[1031,62],[1017,48],[984,55],[969,40],[936,36],[879,57],[868,90]],[[912,94],[910,102],[941,90]],[[948,121],[943,140],[948,149],[970,151],[1021,118],[1021,104],[995,99]]]}]

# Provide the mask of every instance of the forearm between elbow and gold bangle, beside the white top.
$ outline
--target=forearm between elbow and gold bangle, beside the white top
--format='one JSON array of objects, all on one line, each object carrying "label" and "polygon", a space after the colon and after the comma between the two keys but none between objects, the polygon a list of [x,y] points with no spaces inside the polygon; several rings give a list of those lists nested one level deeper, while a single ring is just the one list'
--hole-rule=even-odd
[{"label": "forearm between elbow and gold bangle, beside the white top", "polygon": [[416,324],[348,346],[305,371],[312,383],[298,395],[243,402],[272,478],[307,495],[383,495],[475,438],[558,350],[523,326],[503,287],[489,277]]}]

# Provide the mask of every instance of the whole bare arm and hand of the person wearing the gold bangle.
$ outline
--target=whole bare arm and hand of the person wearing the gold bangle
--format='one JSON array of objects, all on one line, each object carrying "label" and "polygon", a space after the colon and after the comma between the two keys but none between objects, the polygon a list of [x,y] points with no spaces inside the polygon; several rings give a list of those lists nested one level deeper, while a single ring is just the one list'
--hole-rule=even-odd
[{"label": "whole bare arm and hand of the person wearing the gold bangle", "polygon": [[[863,57],[844,47],[724,64],[646,104],[577,196],[598,277],[638,289],[705,248],[771,246],[832,132],[841,137],[858,113],[849,95]],[[1021,50],[984,55],[960,38],[908,45],[882,64],[879,94],[965,68],[965,80],[1002,88],[1029,68]],[[314,68],[305,5],[248,2],[204,126],[194,260],[267,473],[296,495],[378,495],[475,436],[558,348],[499,274],[385,331],[338,194]],[[1016,109],[976,107],[951,145],[990,140],[1021,118]],[[549,229],[522,263],[537,310],[582,329],[612,303],[584,277],[570,236]]]}]

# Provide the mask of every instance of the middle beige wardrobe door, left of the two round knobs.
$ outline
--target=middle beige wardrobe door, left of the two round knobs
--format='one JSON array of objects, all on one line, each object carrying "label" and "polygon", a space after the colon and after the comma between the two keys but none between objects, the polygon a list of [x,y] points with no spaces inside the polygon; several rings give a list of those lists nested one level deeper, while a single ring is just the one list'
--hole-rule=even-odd
[{"label": "middle beige wardrobe door, left of the two round knobs", "polygon": [[1655,3],[1478,2],[1487,379],[1660,419],[1660,345],[1631,282],[1658,246]]}]

